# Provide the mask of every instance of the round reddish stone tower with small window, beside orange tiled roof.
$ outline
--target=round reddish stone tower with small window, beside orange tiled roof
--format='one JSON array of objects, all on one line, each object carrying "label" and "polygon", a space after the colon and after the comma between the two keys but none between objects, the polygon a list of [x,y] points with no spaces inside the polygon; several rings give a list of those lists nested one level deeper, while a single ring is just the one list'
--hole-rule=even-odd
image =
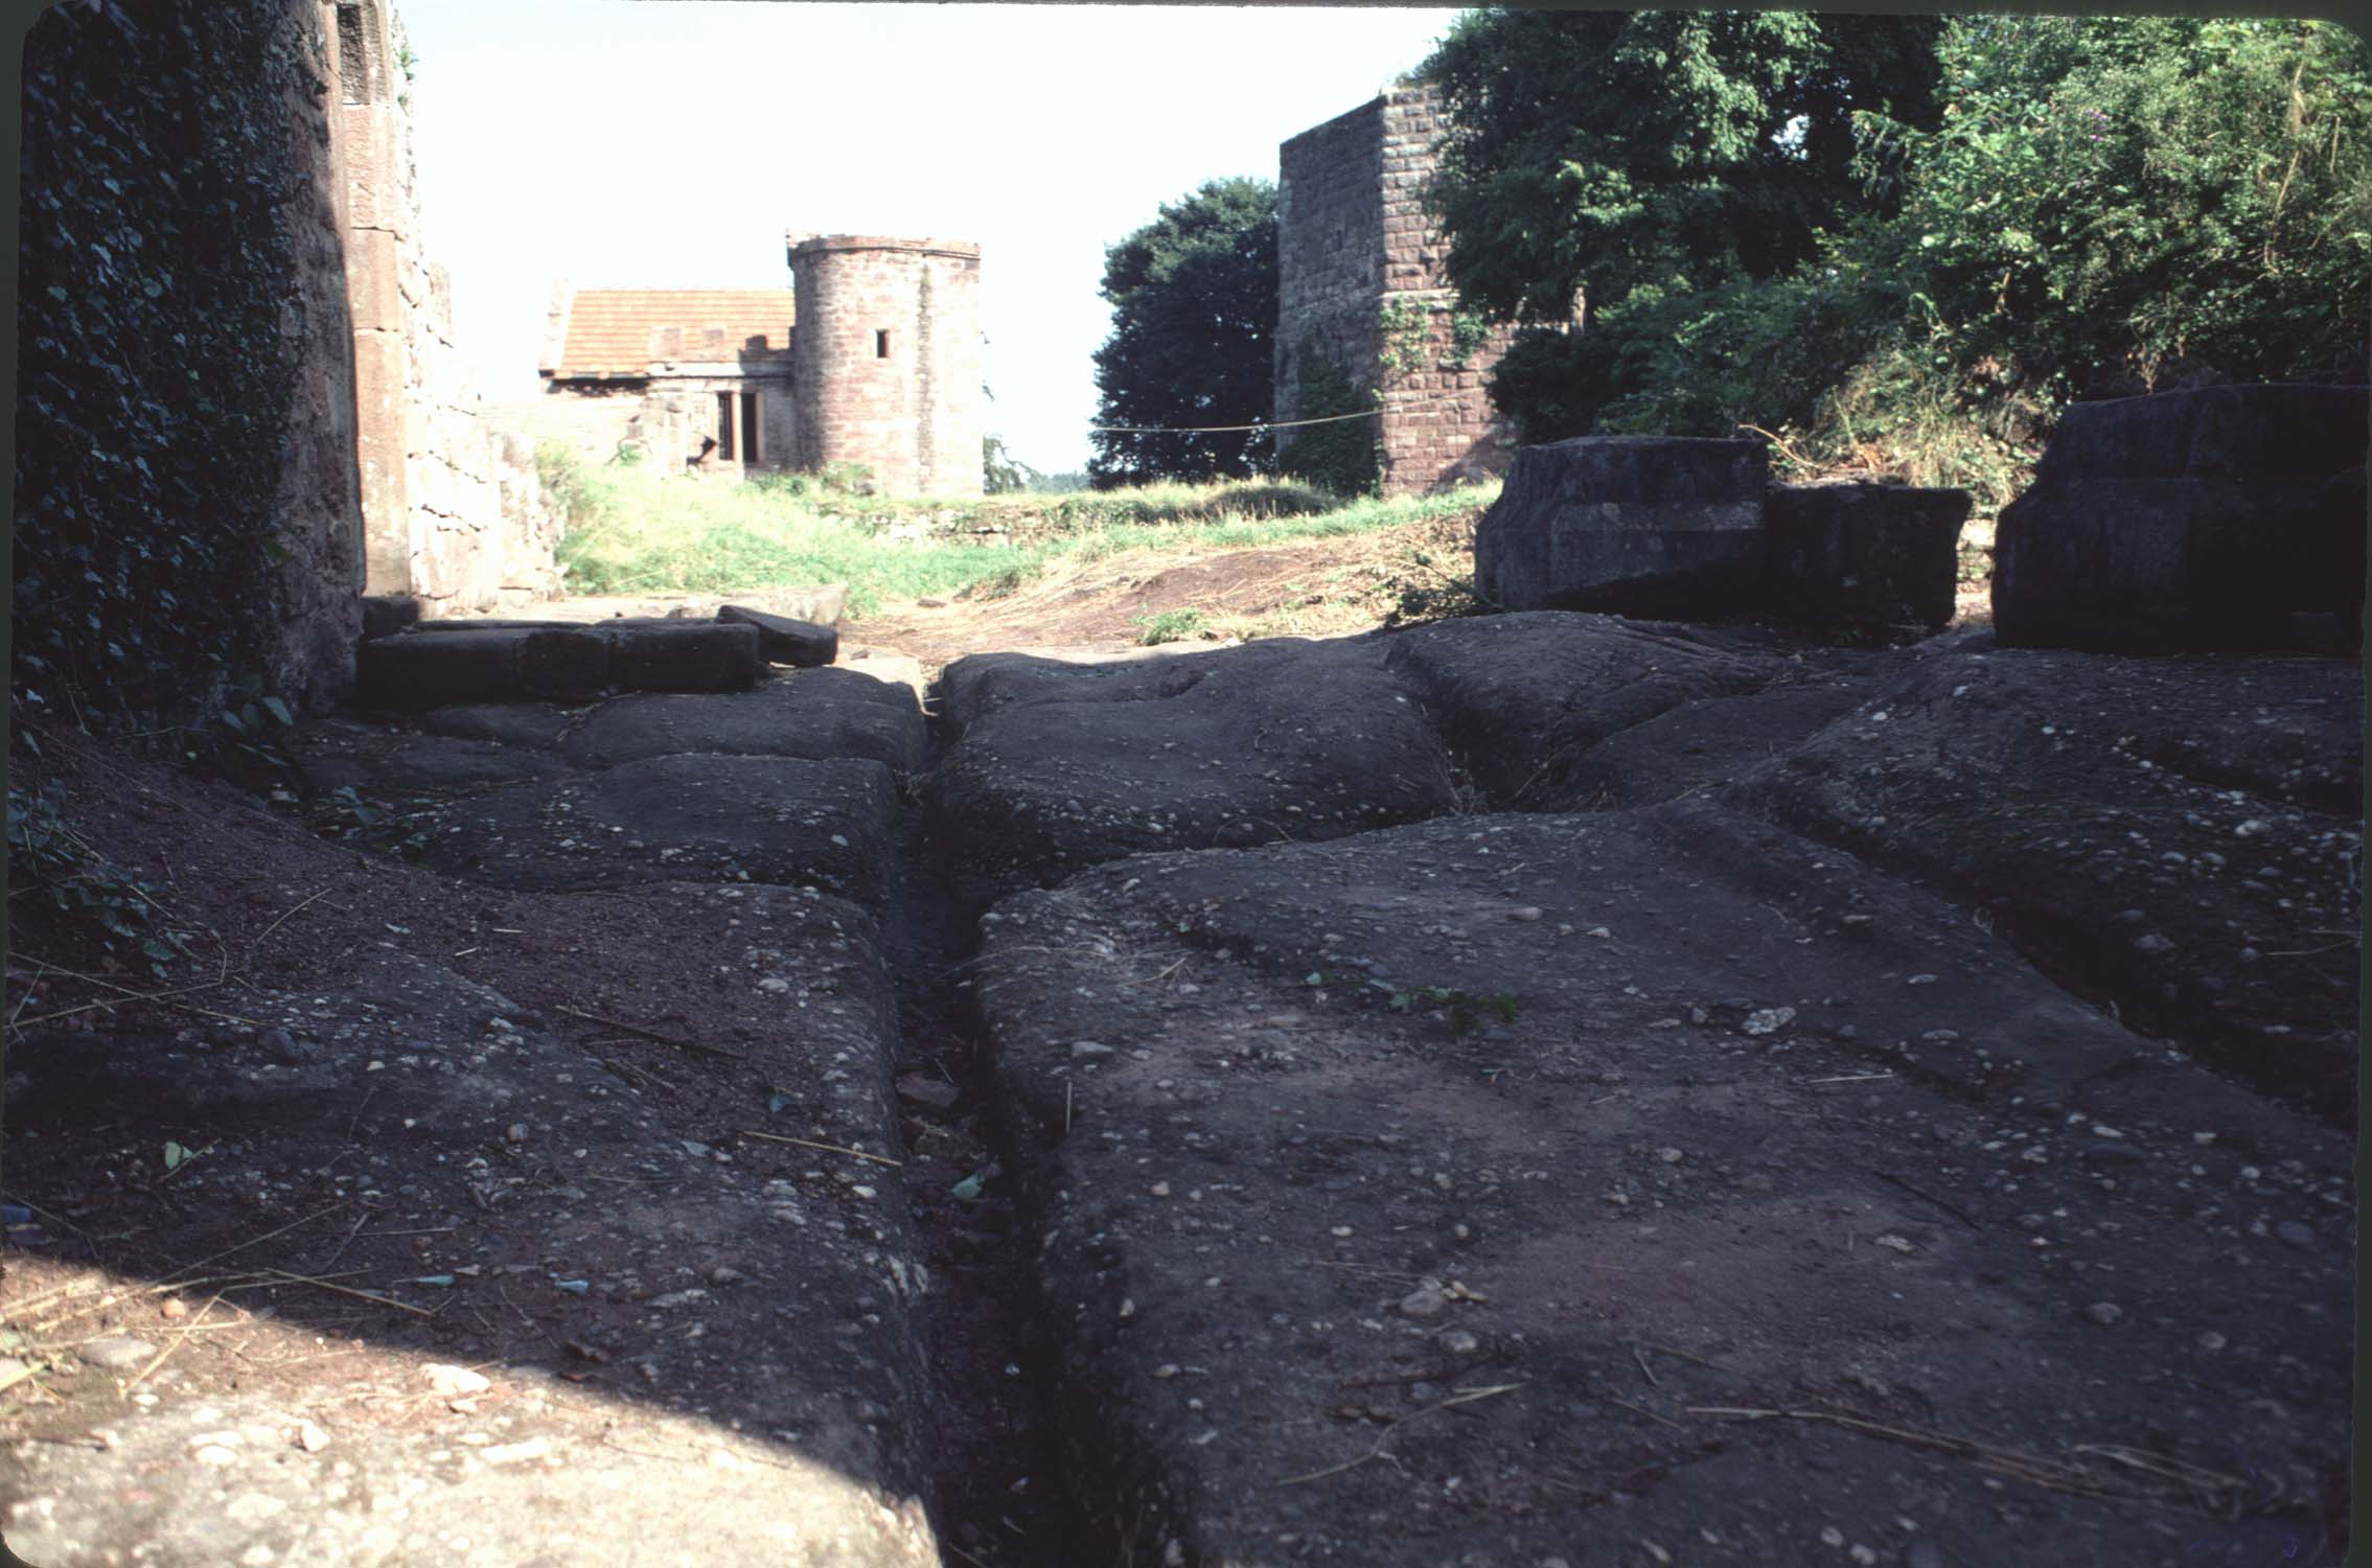
[{"label": "round reddish stone tower with small window, beside orange tiled roof", "polygon": [[980,247],[788,235],[799,467],[861,463],[887,496],[980,493]]}]

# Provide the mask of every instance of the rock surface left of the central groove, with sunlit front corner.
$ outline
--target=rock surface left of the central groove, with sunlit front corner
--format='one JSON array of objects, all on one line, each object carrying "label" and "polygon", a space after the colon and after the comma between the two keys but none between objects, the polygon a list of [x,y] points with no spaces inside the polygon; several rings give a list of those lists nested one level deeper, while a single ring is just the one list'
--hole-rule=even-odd
[{"label": "rock surface left of the central groove, with sunlit front corner", "polygon": [[[942,1561],[927,1276],[847,1153],[899,1146],[866,911],[472,890],[104,778],[83,821],[116,854],[254,894],[211,911],[206,1006],[19,1011],[12,1200],[55,1236],[0,1295],[17,1397],[45,1390],[0,1445],[12,1549]],[[62,932],[14,937],[26,965]]]}]

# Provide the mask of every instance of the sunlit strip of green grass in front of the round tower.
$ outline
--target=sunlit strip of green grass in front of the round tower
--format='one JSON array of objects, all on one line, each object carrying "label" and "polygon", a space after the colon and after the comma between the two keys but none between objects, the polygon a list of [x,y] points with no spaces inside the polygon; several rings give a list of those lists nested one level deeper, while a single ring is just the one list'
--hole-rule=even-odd
[{"label": "sunlit strip of green grass in front of the round tower", "polygon": [[569,593],[721,593],[849,584],[849,612],[892,600],[994,598],[1058,560],[1134,548],[1257,548],[1335,538],[1482,505],[1492,489],[1350,501],[1305,484],[1160,484],[987,498],[849,496],[802,474],[719,484],[648,467],[593,467],[543,446],[567,512]]}]

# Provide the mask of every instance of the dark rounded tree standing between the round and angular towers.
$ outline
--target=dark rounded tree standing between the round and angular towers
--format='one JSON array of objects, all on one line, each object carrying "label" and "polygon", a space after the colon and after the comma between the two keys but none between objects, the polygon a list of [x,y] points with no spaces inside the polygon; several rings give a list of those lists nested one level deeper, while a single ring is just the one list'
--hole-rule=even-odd
[{"label": "dark rounded tree standing between the round and angular towers", "polygon": [[1269,418],[1276,187],[1207,180],[1103,254],[1112,334],[1096,349],[1101,406],[1089,477],[1241,479],[1269,465],[1264,432],[1177,434]]}]

